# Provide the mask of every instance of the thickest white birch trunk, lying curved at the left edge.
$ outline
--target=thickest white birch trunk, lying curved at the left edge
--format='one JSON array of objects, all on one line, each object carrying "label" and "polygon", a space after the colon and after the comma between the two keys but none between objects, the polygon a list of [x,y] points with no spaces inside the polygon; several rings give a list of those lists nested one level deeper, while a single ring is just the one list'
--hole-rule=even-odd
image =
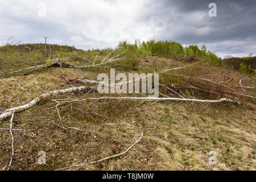
[{"label": "thickest white birch trunk, lying curved at the left edge", "polygon": [[71,93],[71,92],[78,92],[78,91],[82,91],[82,90],[90,90],[90,89],[94,89],[94,88],[89,87],[89,86],[79,86],[79,87],[73,87],[73,88],[63,89],[63,90],[54,90],[51,92],[44,93],[44,94],[36,97],[34,100],[29,102],[28,104],[25,104],[23,106],[13,107],[11,109],[7,109],[0,115],[0,120],[8,118],[14,113],[18,113],[20,111],[29,109],[31,106],[38,104],[38,102],[44,100],[47,97],[56,96],[59,94]]}]

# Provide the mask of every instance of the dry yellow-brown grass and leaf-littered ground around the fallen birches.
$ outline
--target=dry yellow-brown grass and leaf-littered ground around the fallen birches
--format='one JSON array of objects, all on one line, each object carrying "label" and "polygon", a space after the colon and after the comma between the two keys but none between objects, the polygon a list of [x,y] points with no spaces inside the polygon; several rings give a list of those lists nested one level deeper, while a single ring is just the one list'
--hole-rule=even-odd
[{"label": "dry yellow-brown grass and leaf-littered ground around the fallen birches", "polygon": [[[185,65],[161,57],[140,57],[137,71],[151,72],[167,66]],[[78,62],[63,59],[70,64]],[[118,68],[118,67],[117,67]],[[204,65],[193,67],[201,75],[212,79],[226,80],[233,77],[238,83],[242,77],[245,85],[251,80],[226,69],[204,69]],[[106,70],[108,72],[108,69]],[[123,72],[122,69],[119,69]],[[10,107],[26,104],[49,90],[84,85],[76,77],[96,80],[102,68],[73,69],[45,68],[26,74],[0,78],[0,112]],[[126,70],[126,72],[134,72]],[[217,73],[216,73],[217,72]],[[179,72],[176,72],[179,73]],[[197,72],[198,73],[198,72]],[[194,74],[194,75],[193,75]],[[222,74],[222,75],[221,75]],[[196,73],[191,72],[191,76]],[[180,82],[176,77],[167,77],[170,83]],[[163,82],[168,82],[168,79]],[[176,80],[175,80],[176,79]],[[160,78],[161,80],[161,78]],[[255,91],[250,91],[255,94]],[[54,98],[80,98],[85,93],[67,94]],[[90,93],[100,96],[97,93]],[[167,94],[167,93],[166,93]],[[201,97],[209,96],[202,93]],[[220,95],[209,96],[220,98]],[[53,99],[53,98],[51,98]],[[56,126],[59,117],[56,102],[51,99],[40,102],[29,110],[15,114],[14,129],[36,131],[13,131],[13,170],[52,170],[61,167],[92,162],[109,155],[118,154],[144,136],[126,155],[106,160],[81,170],[255,170],[256,169],[256,125],[255,103],[243,105],[229,103],[200,104],[183,101],[86,101],[59,106],[65,127],[77,127],[97,131],[63,131]],[[100,113],[95,114],[93,111]],[[72,108],[72,109],[71,109]],[[0,123],[9,128],[9,119]],[[10,161],[11,141],[9,131],[1,131],[0,169],[5,170]],[[108,136],[106,136],[108,135]],[[45,151],[45,165],[38,164],[38,152]],[[217,164],[212,168],[208,153],[217,152]]]}]

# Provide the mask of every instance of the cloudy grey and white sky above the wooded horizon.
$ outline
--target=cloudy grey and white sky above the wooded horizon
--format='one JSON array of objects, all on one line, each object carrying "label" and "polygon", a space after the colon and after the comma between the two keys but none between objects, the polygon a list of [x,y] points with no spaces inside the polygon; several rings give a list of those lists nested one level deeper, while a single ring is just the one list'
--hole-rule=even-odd
[{"label": "cloudy grey and white sky above the wooded horizon", "polygon": [[[212,2],[216,17],[208,14]],[[115,47],[125,39],[172,40],[205,44],[218,56],[256,55],[256,1],[0,0],[0,40],[8,36],[22,43],[49,36],[51,44],[82,49]]]}]

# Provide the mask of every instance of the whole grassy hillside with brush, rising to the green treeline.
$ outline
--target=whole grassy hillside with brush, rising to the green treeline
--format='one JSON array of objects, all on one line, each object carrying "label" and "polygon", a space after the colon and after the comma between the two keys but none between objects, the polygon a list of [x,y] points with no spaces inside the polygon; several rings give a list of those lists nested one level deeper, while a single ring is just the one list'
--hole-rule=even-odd
[{"label": "whole grassy hillside with brush, rising to the green treeline", "polygon": [[[15,112],[13,117],[3,118],[0,169],[8,168],[10,158],[11,170],[53,170],[91,163],[126,151],[141,137],[141,132],[142,139],[126,154],[69,169],[256,169],[256,93],[252,73],[242,74],[239,68],[236,71],[213,65],[209,62],[216,61],[213,53],[205,50],[203,55],[195,47],[189,48],[196,49],[193,55],[181,56],[186,51],[179,54],[170,49],[161,55],[147,52],[143,46],[134,49],[134,45],[124,44],[101,52],[51,46],[51,54],[47,49],[45,55],[43,45],[36,46],[1,49],[0,114],[52,90],[78,86],[89,89],[47,97]],[[34,69],[38,65],[46,66]],[[33,69],[24,69],[28,67]],[[85,82],[97,80],[100,73],[110,75],[111,68],[125,75],[159,73],[160,98],[205,102],[136,100],[134,97],[147,94],[101,94],[95,89],[96,84]],[[11,73],[14,71],[19,72]],[[232,102],[222,102],[221,98]],[[13,121],[13,140],[10,121]],[[46,152],[45,165],[38,164],[39,151]],[[208,163],[210,151],[217,154],[214,166]]]}]

